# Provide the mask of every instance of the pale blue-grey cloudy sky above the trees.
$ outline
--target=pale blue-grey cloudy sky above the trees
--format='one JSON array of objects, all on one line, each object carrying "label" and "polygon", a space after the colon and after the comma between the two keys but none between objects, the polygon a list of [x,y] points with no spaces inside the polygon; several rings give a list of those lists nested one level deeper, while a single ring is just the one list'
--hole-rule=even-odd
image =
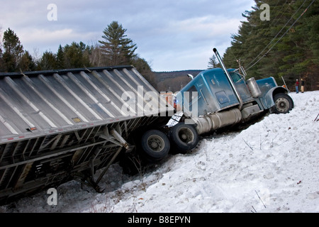
[{"label": "pale blue-grey cloudy sky above the trees", "polygon": [[254,1],[0,0],[0,5],[1,33],[11,28],[31,55],[57,52],[73,41],[97,43],[104,28],[118,21],[138,55],[159,72],[206,69],[212,49],[223,55]]}]

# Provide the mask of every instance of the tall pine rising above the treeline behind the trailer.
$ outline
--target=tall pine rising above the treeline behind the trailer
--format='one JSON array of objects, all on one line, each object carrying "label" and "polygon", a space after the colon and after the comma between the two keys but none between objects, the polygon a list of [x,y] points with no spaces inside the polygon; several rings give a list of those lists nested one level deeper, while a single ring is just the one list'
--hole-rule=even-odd
[{"label": "tall pine rising above the treeline behind the trailer", "polygon": [[104,29],[103,40],[99,40],[99,43],[102,44],[101,50],[107,65],[131,64],[133,57],[135,57],[136,44],[126,38],[126,31],[117,21],[113,21]]}]

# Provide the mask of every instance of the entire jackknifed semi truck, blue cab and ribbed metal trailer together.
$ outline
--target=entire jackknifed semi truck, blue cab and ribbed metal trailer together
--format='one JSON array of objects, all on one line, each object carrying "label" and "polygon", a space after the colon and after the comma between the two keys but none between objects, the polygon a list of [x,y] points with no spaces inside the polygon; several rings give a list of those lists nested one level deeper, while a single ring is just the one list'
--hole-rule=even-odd
[{"label": "entire jackknifed semi truck, blue cab and ribbed metal trailer together", "polygon": [[222,68],[192,78],[172,104],[130,65],[0,73],[0,204],[72,179],[99,192],[114,162],[134,172],[136,160],[158,162],[193,150],[200,135],[293,108],[273,77],[245,80],[214,52]]}]

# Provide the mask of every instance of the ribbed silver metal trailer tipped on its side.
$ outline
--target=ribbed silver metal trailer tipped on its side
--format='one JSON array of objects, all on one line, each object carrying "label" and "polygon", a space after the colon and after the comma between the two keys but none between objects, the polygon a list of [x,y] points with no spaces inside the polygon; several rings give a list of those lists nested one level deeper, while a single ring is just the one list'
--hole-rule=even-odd
[{"label": "ribbed silver metal trailer tipped on its side", "polygon": [[71,179],[97,185],[96,170],[167,111],[132,66],[0,73],[0,203]]}]

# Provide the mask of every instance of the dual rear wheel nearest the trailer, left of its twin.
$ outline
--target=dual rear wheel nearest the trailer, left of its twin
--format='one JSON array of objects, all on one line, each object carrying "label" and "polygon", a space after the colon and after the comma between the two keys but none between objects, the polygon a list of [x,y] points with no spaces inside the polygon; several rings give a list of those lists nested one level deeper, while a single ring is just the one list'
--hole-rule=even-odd
[{"label": "dual rear wheel nearest the trailer, left of its twin", "polygon": [[159,161],[167,156],[170,149],[167,135],[158,130],[150,130],[142,135],[142,150],[148,161]]}]

